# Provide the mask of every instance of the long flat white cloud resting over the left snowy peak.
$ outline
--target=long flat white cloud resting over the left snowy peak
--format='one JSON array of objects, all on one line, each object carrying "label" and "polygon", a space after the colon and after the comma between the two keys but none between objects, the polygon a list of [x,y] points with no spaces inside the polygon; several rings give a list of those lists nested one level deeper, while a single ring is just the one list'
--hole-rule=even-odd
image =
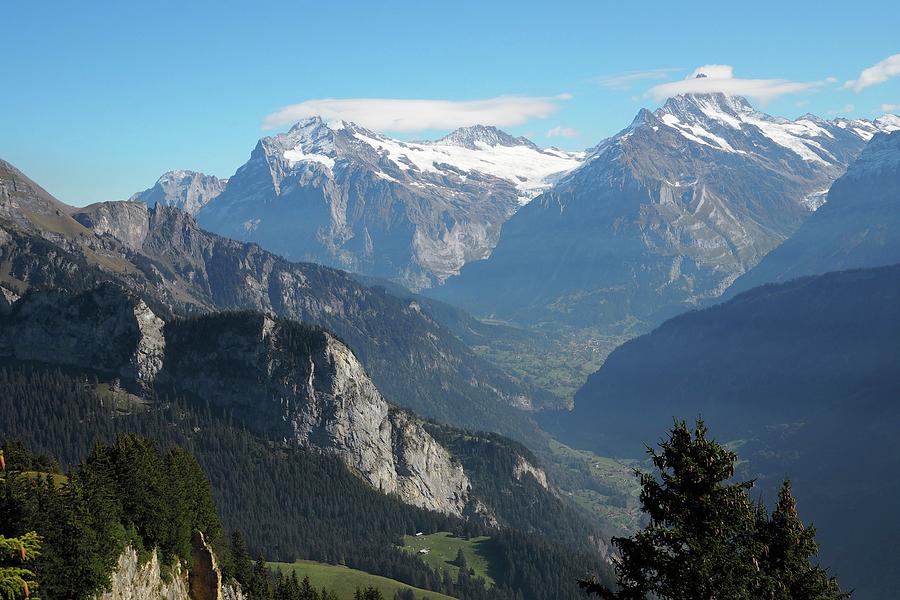
[{"label": "long flat white cloud resting over the left snowy peak", "polygon": [[349,98],[307,100],[285,106],[263,119],[274,129],[307,119],[352,121],[376,131],[455,129],[467,125],[511,127],[543,119],[559,110],[571,94],[558,96],[498,96],[484,100],[419,100]]}]

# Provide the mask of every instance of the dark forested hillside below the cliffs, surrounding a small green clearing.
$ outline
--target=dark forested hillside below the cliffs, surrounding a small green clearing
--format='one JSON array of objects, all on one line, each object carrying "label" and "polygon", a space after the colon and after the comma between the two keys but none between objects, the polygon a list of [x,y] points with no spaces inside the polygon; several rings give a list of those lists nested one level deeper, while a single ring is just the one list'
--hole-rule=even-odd
[{"label": "dark forested hillside below the cliffs, surrounding a small green clearing", "polygon": [[245,533],[253,556],[342,563],[443,591],[441,573],[396,545],[404,534],[452,531],[489,534],[499,557],[495,588],[488,592],[477,580],[454,581],[456,597],[577,598],[578,577],[607,572],[596,554],[403,504],[367,486],[333,457],[267,441],[210,408],[169,398],[142,407],[90,376],[38,365],[0,368],[0,386],[10,392],[0,397],[6,416],[0,438],[20,439],[63,464],[87,456],[96,439],[113,439],[117,431],[194,454],[209,474],[223,524]]}]

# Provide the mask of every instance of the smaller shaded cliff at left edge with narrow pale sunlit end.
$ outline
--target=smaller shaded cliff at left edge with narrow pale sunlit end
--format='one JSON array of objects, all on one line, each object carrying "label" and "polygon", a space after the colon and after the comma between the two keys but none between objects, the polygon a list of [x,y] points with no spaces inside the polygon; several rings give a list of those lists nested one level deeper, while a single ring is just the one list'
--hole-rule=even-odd
[{"label": "smaller shaded cliff at left edge with narrow pale sunlit end", "polygon": [[162,368],[163,321],[115,285],[78,295],[35,292],[3,318],[0,355],[152,381]]}]

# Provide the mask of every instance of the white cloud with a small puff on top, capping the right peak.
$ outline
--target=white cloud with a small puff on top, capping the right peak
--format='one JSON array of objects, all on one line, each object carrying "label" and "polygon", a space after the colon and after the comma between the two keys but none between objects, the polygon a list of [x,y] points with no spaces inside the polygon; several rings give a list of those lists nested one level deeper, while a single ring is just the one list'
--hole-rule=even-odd
[{"label": "white cloud with a small puff on top, capping the right peak", "polygon": [[687,79],[655,85],[647,94],[656,100],[665,100],[678,94],[724,92],[735,96],[746,96],[766,104],[779,96],[812,90],[824,83],[824,81],[787,81],[784,79],[739,79],[734,77],[734,69],[731,65],[704,65],[694,69]]}]

